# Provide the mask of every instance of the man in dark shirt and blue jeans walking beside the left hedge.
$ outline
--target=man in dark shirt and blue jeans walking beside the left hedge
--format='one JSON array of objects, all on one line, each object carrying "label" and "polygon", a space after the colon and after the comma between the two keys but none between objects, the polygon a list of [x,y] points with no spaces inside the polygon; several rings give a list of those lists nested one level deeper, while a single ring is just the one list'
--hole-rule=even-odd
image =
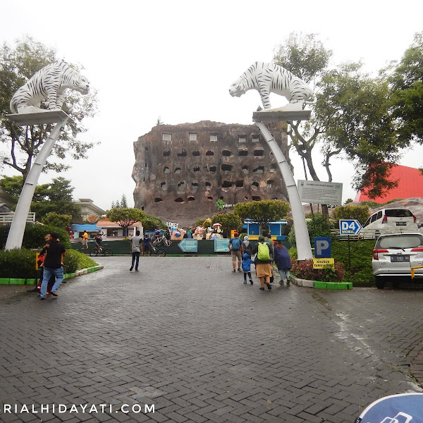
[{"label": "man in dark shirt and blue jeans walking beside the left hedge", "polygon": [[59,243],[59,234],[57,232],[51,232],[50,240],[45,245],[47,253],[44,257],[44,271],[41,284],[41,290],[39,296],[42,300],[46,299],[47,285],[52,275],[56,276],[56,282],[53,288],[51,288],[51,295],[57,297],[57,290],[63,281],[63,266],[62,260],[66,256],[66,249],[62,243]]}]

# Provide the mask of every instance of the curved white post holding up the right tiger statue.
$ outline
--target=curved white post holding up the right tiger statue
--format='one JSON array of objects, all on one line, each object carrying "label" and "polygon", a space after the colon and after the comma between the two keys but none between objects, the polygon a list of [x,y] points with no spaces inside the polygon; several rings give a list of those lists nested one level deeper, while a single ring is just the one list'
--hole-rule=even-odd
[{"label": "curved white post holding up the right tiger statue", "polygon": [[288,190],[288,198],[290,202],[291,211],[293,212],[293,221],[295,229],[295,242],[297,244],[297,252],[299,260],[312,259],[312,247],[310,245],[309,234],[307,229],[307,223],[305,221],[304,210],[300,200],[300,194],[298,193],[297,184],[293,178],[293,174],[290,171],[288,162],[285,156],[281,152],[281,149],[277,145],[274,138],[269,133],[266,125],[262,121],[255,121],[260,132],[264,136],[267,144],[274,154],[278,166],[281,169],[282,178],[285,182],[286,189]]}]

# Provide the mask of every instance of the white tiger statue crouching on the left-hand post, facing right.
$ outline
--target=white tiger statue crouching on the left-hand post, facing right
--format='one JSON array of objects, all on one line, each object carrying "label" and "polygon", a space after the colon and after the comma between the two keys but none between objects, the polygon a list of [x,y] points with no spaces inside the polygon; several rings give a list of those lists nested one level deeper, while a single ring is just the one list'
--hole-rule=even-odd
[{"label": "white tiger statue crouching on the left-hand post, facing right", "polygon": [[49,110],[60,110],[68,89],[88,94],[90,83],[66,63],[51,63],[18,88],[11,99],[11,111],[18,114],[46,111],[40,109],[44,99],[49,103]]}]

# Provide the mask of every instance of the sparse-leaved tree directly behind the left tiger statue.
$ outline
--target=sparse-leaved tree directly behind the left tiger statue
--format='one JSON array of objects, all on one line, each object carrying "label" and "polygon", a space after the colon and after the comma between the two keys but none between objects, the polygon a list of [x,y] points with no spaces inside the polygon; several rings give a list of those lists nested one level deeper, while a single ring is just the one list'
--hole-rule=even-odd
[{"label": "sparse-leaved tree directly behind the left tiger statue", "polygon": [[[5,115],[10,113],[9,102],[16,90],[39,69],[58,60],[54,49],[31,37],[18,40],[14,48],[5,43],[0,49],[0,142],[8,152],[3,154],[3,163],[22,173],[24,180],[53,125],[20,127],[11,123]],[[68,94],[63,111],[72,119],[66,123],[44,170],[63,171],[69,167],[63,164],[64,159],[81,159],[86,155],[92,143],[82,142],[77,137],[86,131],[82,120],[94,115],[96,102],[95,92],[86,96],[77,92]]]}]

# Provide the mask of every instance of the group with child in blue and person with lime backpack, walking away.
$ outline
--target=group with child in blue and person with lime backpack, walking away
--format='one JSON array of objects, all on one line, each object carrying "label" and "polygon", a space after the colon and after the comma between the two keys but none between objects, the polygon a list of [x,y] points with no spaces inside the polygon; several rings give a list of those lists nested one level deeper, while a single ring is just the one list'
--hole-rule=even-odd
[{"label": "group with child in blue and person with lime backpack, walking away", "polygon": [[[289,284],[290,276],[290,256],[288,248],[281,243],[280,240],[273,241],[269,233],[264,232],[259,236],[259,242],[255,247],[252,247],[250,238],[247,236],[240,240],[239,233],[235,232],[233,238],[229,240],[228,250],[232,257],[232,271],[238,271],[244,274],[244,283],[247,284],[247,276],[250,279],[250,284],[253,285],[251,276],[251,265],[255,265],[256,276],[260,280],[260,290],[264,290],[267,286],[271,290],[271,282],[273,282],[273,266],[276,264],[278,272],[281,276],[281,283]],[[255,256],[252,260],[251,257]]]}]

